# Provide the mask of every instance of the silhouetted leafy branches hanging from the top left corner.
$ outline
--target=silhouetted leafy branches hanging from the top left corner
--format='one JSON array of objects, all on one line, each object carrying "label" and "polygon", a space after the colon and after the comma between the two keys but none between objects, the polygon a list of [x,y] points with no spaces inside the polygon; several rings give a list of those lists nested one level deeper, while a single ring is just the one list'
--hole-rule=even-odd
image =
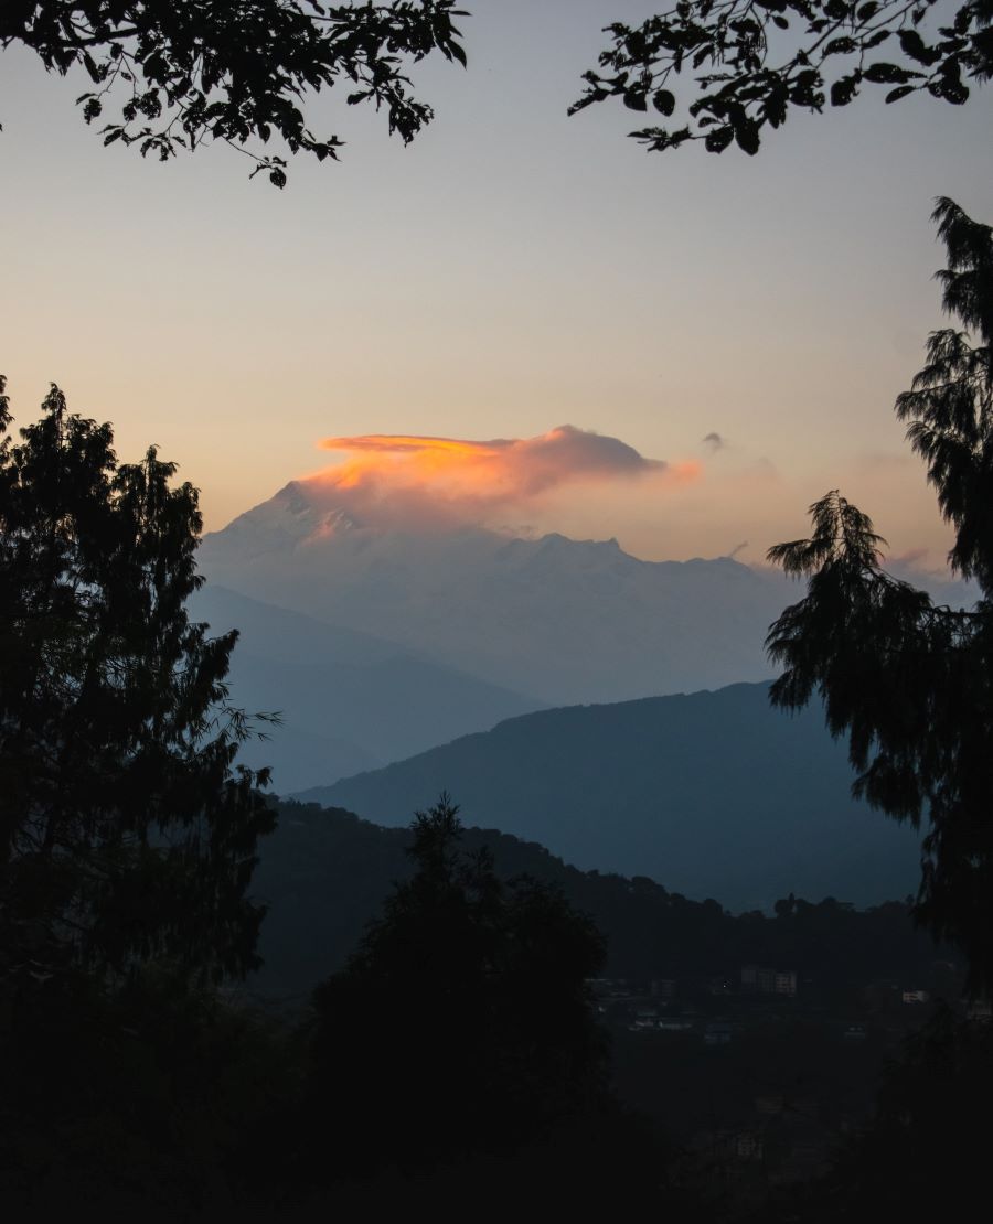
[{"label": "silhouetted leafy branches hanging from the top left corner", "polygon": [[49,71],[82,67],[94,88],[77,102],[102,120],[104,144],[136,144],[165,160],[224,141],[277,187],[290,153],[338,157],[337,136],[315,136],[309,95],[342,83],[347,102],[386,109],[407,143],[432,118],[410,92],[405,61],[440,51],[465,64],[455,0],[322,5],[317,0],[4,0],[0,47],[36,51]]}]

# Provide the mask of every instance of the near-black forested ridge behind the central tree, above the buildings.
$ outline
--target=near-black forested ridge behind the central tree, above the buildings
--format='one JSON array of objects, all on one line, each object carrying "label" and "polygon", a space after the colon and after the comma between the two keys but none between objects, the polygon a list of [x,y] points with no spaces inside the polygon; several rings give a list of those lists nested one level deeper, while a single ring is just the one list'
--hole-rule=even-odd
[{"label": "near-black forested ridge behind the central tree, above the buildings", "polygon": [[[409,878],[410,831],[316,804],[283,802],[277,808],[278,827],[260,846],[252,880],[269,911],[260,945],[264,967],[249,989],[299,1002],[344,965],[393,883]],[[464,814],[473,820],[470,809]],[[584,873],[544,846],[496,829],[470,825],[463,846],[469,852],[487,847],[504,879],[526,874],[560,887],[606,936],[606,972],[635,982],[737,977],[749,962],[792,966],[820,985],[879,973],[926,980],[935,955],[899,903],[862,914],[823,902],[800,907],[795,922],[735,920],[718,902],[687,900],[644,875]],[[808,900],[820,902],[814,895]]]}]

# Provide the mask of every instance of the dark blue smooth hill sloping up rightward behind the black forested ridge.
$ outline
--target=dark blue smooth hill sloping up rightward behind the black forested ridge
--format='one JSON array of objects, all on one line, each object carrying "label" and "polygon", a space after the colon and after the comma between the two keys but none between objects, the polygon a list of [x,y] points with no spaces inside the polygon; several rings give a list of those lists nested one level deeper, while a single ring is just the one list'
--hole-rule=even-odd
[{"label": "dark blue smooth hill sloping up rightward behind the black forested ridge", "polygon": [[918,841],[855,803],[819,710],[773,710],[765,684],[542,710],[296,798],[405,825],[442,789],[475,824],[583,869],[648,875],[732,909],[790,892],[905,897]]}]

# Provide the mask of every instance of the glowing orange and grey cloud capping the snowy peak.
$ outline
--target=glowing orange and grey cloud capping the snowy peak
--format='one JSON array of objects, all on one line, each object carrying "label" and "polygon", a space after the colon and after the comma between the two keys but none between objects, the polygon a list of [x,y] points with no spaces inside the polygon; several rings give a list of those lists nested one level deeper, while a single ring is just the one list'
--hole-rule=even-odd
[{"label": "glowing orange and grey cloud capping the snowy peak", "polygon": [[495,515],[529,514],[569,490],[649,491],[693,480],[699,465],[645,459],[618,438],[562,425],[535,438],[366,435],[326,438],[343,461],[312,476],[345,510],[370,524],[492,525]]}]

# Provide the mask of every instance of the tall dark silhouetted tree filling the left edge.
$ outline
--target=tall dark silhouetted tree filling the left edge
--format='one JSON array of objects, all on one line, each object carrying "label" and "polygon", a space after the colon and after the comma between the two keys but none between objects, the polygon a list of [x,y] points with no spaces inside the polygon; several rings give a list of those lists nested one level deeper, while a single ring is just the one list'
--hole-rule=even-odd
[{"label": "tall dark silhouetted tree filling the left edge", "polygon": [[187,619],[201,519],[174,465],[119,464],[54,387],[17,443],[2,392],[0,1198],[185,1219],[282,1073],[213,990],[258,963],[274,823],[235,764],[236,635]]}]

